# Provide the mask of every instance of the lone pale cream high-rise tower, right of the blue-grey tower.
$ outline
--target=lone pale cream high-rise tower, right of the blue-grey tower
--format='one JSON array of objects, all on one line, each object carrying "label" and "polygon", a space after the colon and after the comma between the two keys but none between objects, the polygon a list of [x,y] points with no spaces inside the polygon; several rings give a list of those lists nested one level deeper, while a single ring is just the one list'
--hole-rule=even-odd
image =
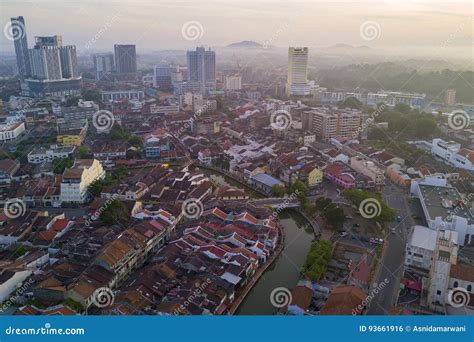
[{"label": "lone pale cream high-rise tower, right of the blue-grey tower", "polygon": [[309,95],[311,86],[308,83],[308,48],[288,48],[287,95]]}]

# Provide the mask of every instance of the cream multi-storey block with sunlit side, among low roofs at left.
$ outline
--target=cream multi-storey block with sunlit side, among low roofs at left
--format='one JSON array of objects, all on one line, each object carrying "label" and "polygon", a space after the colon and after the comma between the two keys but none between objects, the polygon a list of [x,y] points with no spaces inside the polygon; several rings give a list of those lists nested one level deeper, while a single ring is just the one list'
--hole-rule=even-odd
[{"label": "cream multi-storey block with sunlit side, among low roofs at left", "polygon": [[97,159],[80,159],[74,166],[64,170],[61,183],[61,201],[84,203],[87,200],[87,188],[95,180],[102,179],[105,171]]}]

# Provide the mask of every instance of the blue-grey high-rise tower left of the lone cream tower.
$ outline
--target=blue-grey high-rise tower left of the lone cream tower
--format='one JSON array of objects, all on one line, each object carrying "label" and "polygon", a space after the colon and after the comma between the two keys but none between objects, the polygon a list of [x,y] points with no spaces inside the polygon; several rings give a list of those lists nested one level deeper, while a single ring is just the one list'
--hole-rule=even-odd
[{"label": "blue-grey high-rise tower left of the lone cream tower", "polygon": [[197,47],[187,52],[188,82],[199,84],[202,92],[216,89],[216,53]]}]

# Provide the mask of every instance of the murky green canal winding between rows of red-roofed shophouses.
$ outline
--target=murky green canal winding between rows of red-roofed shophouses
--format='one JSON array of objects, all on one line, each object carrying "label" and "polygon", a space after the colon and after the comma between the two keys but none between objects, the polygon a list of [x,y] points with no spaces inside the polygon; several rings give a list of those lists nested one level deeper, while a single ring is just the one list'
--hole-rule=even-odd
[{"label": "murky green canal winding between rows of red-roofed shophouses", "polygon": [[[249,194],[251,198],[262,196],[249,187],[235,182],[228,177],[202,170],[215,184],[230,185]],[[277,287],[289,290],[296,286],[300,278],[300,269],[306,258],[311,242],[314,239],[312,227],[294,211],[283,211],[279,214],[280,222],[285,230],[285,247],[280,256],[268,267],[261,278],[249,292],[236,311],[236,315],[273,315],[278,308],[270,302],[270,294]]]}]

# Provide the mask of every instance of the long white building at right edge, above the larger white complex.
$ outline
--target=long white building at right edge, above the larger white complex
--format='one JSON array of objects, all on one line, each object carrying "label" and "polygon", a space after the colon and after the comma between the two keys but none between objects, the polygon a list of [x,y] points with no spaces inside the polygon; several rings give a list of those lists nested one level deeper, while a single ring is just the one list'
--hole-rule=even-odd
[{"label": "long white building at right edge, above the larger white complex", "polygon": [[474,171],[474,151],[461,148],[461,144],[443,139],[433,139],[431,154],[453,167]]}]

